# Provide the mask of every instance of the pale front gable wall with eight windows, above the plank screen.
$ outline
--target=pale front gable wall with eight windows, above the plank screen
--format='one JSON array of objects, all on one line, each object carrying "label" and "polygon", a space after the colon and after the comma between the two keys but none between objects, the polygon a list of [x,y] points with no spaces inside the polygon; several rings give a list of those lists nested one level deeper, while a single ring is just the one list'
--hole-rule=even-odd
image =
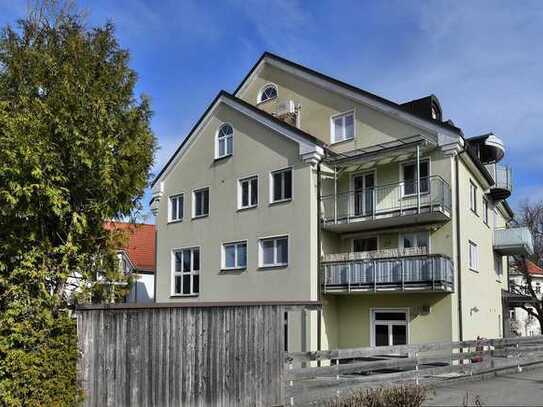
[{"label": "pale front gable wall with eight windows, above the plank screen", "polygon": [[[234,154],[215,161],[215,132],[223,122],[234,128]],[[193,137],[193,145],[165,179],[160,200],[157,301],[315,300],[314,175],[299,159],[298,145],[225,105],[216,110],[201,134]],[[288,166],[293,167],[293,199],[269,204],[270,171]],[[238,211],[237,181],[250,175],[259,177],[258,208]],[[210,188],[209,217],[193,220],[192,190],[206,186]],[[181,192],[185,194],[184,220],[168,223],[168,196]],[[289,265],[259,269],[258,239],[275,235],[289,236]],[[239,240],[247,240],[247,270],[221,272],[222,243]],[[200,246],[200,294],[171,296],[172,250],[190,246]]]}]

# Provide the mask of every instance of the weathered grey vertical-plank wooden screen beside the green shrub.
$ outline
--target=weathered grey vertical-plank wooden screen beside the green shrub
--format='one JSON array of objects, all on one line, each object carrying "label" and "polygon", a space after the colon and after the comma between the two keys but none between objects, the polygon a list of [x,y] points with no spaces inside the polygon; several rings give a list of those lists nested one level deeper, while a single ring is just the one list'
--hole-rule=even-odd
[{"label": "weathered grey vertical-plank wooden screen beside the green shrub", "polygon": [[292,305],[79,309],[85,406],[270,406],[284,400]]}]

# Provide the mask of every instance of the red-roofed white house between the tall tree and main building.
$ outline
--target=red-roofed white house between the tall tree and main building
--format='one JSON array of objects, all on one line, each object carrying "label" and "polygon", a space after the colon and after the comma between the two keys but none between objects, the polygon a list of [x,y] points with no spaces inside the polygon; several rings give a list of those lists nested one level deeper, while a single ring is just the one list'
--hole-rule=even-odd
[{"label": "red-roofed white house between the tall tree and main building", "polygon": [[118,251],[119,264],[126,274],[134,278],[128,303],[151,303],[155,298],[156,230],[155,225],[110,222],[115,229],[127,232],[127,241]]}]

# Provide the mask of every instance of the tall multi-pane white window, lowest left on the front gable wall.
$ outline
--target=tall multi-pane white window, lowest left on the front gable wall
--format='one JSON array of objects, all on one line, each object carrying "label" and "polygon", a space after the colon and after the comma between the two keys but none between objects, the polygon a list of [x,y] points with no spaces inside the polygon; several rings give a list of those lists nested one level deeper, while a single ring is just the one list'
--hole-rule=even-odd
[{"label": "tall multi-pane white window, lowest left on the front gable wall", "polygon": [[200,248],[173,251],[173,295],[197,295],[200,292]]}]

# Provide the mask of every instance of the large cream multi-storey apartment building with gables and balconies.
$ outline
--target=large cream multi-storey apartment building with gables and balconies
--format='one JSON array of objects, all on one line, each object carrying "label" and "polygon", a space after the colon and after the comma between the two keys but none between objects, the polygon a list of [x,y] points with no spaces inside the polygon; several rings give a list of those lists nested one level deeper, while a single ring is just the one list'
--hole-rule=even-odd
[{"label": "large cream multi-storey apartment building with gables and balconies", "polygon": [[435,96],[398,104],[265,53],[153,182],[157,302],[320,301],[289,350],[499,337],[511,171]]}]

